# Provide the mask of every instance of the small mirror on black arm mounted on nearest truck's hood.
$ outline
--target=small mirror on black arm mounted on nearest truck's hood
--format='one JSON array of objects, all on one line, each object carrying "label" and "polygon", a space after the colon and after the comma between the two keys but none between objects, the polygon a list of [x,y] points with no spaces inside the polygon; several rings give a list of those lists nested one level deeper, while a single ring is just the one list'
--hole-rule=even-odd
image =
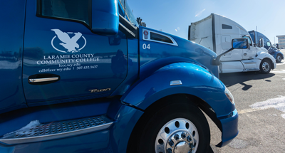
[{"label": "small mirror on black arm mounted on nearest truck's hood", "polygon": [[217,58],[214,58],[212,60],[212,65],[219,65],[219,58],[221,58],[224,54],[229,53],[230,51],[234,49],[247,49],[249,48],[249,40],[247,38],[234,38],[232,39],[232,48],[230,48],[228,51],[225,51],[224,53],[219,54]]}]

